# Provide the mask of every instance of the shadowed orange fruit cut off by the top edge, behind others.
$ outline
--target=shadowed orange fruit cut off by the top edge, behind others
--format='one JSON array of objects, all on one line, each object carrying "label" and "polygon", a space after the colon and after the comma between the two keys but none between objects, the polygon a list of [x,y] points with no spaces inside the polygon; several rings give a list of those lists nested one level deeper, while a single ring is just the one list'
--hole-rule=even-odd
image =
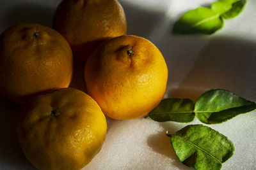
[{"label": "shadowed orange fruit cut off by the top edge, behind others", "polygon": [[70,43],[74,57],[87,60],[100,43],[126,34],[127,24],[117,0],[63,0],[53,28]]}]

